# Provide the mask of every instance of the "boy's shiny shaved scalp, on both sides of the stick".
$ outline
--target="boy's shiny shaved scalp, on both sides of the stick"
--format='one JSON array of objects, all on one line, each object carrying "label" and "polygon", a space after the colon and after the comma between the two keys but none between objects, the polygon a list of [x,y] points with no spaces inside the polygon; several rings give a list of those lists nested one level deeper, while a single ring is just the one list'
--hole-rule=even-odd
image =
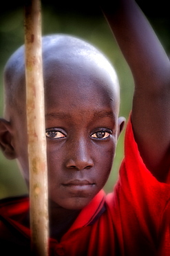
[{"label": "boy's shiny shaved scalp, on both sides of the stick", "polygon": [[[107,58],[94,46],[69,35],[47,35],[43,37],[43,74],[45,91],[50,89],[52,80],[74,81],[74,77],[86,82],[103,80],[103,88],[113,93],[119,104],[118,78]],[[8,60],[4,71],[5,114],[10,119],[13,111],[21,113],[25,102],[24,46],[21,46]],[[63,77],[63,78],[62,78]],[[87,79],[88,78],[88,79]],[[107,82],[109,79],[109,82]],[[88,81],[87,81],[88,80]],[[80,84],[79,84],[80,85]],[[64,83],[63,83],[64,86]]]}]

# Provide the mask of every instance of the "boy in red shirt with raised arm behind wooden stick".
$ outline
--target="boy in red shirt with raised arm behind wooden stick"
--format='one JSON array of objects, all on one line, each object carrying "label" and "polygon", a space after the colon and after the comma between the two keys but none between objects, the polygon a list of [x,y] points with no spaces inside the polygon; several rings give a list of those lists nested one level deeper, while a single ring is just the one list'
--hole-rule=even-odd
[{"label": "boy in red shirt with raised arm behind wooden stick", "polygon": [[[169,255],[170,64],[133,0],[110,10],[103,7],[135,91],[120,178],[107,196],[102,188],[125,123],[114,68],[79,39],[43,39],[50,255]],[[0,142],[29,184],[24,81],[19,48],[6,65]],[[28,197],[4,199],[0,217],[4,255],[30,255]]]}]

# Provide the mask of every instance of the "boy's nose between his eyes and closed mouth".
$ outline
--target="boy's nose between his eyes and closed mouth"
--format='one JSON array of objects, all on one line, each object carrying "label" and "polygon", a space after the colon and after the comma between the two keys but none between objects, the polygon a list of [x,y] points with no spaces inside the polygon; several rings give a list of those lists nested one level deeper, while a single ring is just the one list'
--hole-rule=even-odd
[{"label": "boy's nose between his eyes and closed mouth", "polygon": [[76,143],[70,147],[70,152],[67,154],[66,167],[76,170],[92,168],[94,161],[92,160],[91,150],[86,141],[77,140]]}]

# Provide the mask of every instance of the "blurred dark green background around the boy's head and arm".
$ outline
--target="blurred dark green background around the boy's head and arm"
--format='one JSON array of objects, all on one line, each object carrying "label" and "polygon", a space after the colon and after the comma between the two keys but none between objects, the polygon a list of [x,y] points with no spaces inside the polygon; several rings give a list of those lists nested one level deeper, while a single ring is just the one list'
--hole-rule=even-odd
[{"label": "blurred dark green background around the boy's head and arm", "polygon": [[[81,37],[99,48],[115,66],[120,81],[120,116],[128,119],[134,82],[129,67],[115,42],[98,6],[92,3],[67,5],[57,1],[42,1],[42,33],[67,33]],[[170,51],[170,19],[167,1],[138,1],[147,15],[165,51]],[[149,3],[149,6],[148,6]],[[3,116],[3,67],[8,57],[24,43],[23,3],[4,3],[0,13],[0,116]],[[105,191],[110,192],[118,178],[118,168],[123,159],[124,132],[118,140],[116,158]],[[24,138],[23,138],[24,143]],[[25,194],[27,188],[16,161],[8,161],[0,152],[0,199]]]}]

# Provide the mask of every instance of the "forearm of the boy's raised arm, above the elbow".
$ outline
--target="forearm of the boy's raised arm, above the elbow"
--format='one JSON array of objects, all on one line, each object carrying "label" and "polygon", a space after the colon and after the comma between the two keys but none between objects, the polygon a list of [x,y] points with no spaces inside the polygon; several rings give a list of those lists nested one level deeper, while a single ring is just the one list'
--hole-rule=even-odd
[{"label": "forearm of the boy's raised arm, above the elbow", "polygon": [[131,68],[137,89],[141,86],[152,92],[160,91],[166,79],[169,80],[169,59],[164,48],[134,0],[116,2],[115,6],[113,1],[110,6],[103,4],[101,8]]}]

